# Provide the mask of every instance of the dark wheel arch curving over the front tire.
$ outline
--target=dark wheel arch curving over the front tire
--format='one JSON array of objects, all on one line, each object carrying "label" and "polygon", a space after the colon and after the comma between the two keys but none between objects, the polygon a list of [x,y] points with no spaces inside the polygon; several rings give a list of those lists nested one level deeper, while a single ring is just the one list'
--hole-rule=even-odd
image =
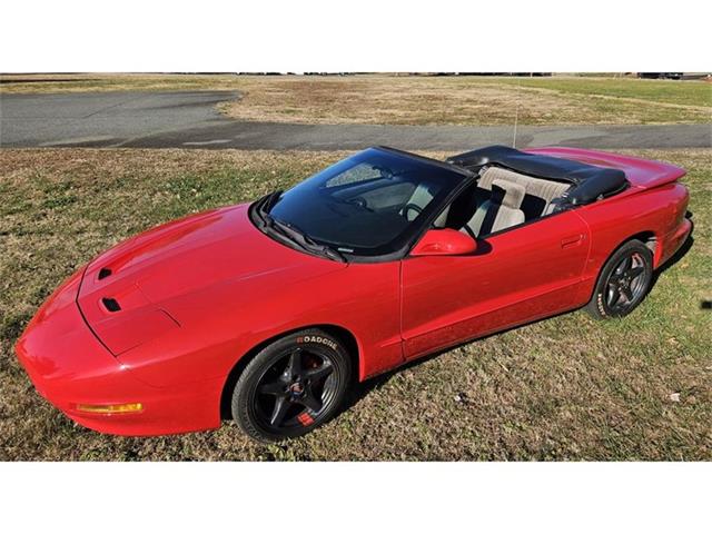
[{"label": "dark wheel arch curving over the front tire", "polygon": [[348,356],[352,360],[352,369],[354,373],[352,374],[352,379],[357,382],[360,376],[360,364],[362,364],[362,349],[358,343],[358,339],[348,328],[345,328],[340,325],[334,324],[314,324],[314,325],[304,325],[298,328],[291,328],[289,330],[280,332],[279,334],[275,334],[266,339],[263,339],[257,345],[253,346],[249,350],[245,352],[239,359],[235,363],[230,372],[228,373],[225,383],[222,384],[222,390],[220,393],[220,418],[229,419],[231,418],[231,408],[230,400],[233,395],[233,389],[237,384],[240,374],[249,364],[249,362],[266,346],[271,343],[280,339],[281,337],[288,336],[289,334],[294,334],[295,332],[307,330],[309,328],[318,328],[320,330],[326,332],[327,334],[333,335],[338,338],[345,346],[348,352]]}]

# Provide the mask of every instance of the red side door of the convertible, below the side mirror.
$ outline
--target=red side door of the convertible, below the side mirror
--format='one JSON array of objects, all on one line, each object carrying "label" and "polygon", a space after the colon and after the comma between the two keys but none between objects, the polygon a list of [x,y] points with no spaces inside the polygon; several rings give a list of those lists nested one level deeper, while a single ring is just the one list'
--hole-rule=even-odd
[{"label": "red side door of the convertible, below the side mirror", "polygon": [[570,210],[478,239],[472,255],[403,259],[405,357],[582,305],[590,240]]}]

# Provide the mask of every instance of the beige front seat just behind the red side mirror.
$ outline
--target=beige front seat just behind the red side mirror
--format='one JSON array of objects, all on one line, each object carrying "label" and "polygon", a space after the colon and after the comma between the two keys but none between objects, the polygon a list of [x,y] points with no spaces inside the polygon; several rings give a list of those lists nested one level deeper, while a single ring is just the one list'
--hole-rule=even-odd
[{"label": "beige front seat just behind the red side mirror", "polygon": [[490,184],[492,197],[477,207],[463,231],[475,237],[500,231],[524,222],[524,211],[520,209],[525,189],[520,184],[493,180]]}]

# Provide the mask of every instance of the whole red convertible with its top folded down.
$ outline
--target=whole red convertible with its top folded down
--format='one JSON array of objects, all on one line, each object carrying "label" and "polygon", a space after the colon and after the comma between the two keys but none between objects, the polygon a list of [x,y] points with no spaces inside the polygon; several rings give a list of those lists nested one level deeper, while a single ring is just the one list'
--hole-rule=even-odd
[{"label": "whole red convertible with its top folded down", "polygon": [[99,432],[303,435],[355,380],[585,306],[622,317],[691,231],[684,170],[571,148],[375,147],[71,276],[17,353]]}]

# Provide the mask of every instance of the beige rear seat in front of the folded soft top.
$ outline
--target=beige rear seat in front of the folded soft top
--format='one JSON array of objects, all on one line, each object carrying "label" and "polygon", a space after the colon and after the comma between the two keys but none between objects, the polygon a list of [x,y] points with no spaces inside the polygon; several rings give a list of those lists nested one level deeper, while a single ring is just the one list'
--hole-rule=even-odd
[{"label": "beige rear seat in front of the folded soft top", "polygon": [[521,209],[527,220],[548,215],[554,208],[552,200],[561,197],[571,187],[570,184],[533,178],[501,167],[486,167],[481,171],[477,187],[491,190],[494,180],[505,180],[524,186],[526,195]]}]

